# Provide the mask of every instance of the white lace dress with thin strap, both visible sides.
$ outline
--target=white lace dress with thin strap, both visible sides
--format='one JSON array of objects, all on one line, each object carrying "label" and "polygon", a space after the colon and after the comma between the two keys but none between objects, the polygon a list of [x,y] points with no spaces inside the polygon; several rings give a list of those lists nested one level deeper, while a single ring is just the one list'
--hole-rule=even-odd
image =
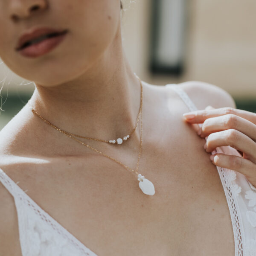
[{"label": "white lace dress with thin strap, both visible sides", "polygon": [[[178,85],[167,84],[166,89],[175,90],[189,111],[197,109]],[[240,156],[230,146],[218,147],[212,154],[217,152]],[[256,188],[239,172],[216,167],[230,210],[235,256],[256,256]],[[15,200],[23,256],[97,256],[41,209],[2,169],[0,182]]]}]

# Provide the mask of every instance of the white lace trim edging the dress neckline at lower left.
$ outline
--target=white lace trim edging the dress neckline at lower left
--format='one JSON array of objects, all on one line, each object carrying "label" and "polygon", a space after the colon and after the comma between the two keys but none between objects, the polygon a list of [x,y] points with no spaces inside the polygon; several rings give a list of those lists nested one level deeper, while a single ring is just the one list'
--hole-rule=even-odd
[{"label": "white lace trim edging the dress neckline at lower left", "polygon": [[[19,209],[23,207],[19,207],[21,202],[23,202],[26,206],[35,212],[46,224],[48,224],[53,230],[57,231],[62,237],[67,239],[73,246],[80,250],[81,253],[87,256],[97,256],[93,251],[87,248],[81,241],[79,241],[75,236],[73,236],[69,231],[67,231],[61,224],[59,224],[55,219],[53,219],[47,212],[45,212],[38,204],[35,203],[27,194],[24,192],[17,183],[15,183],[2,169],[0,169],[0,180],[2,181],[3,185],[8,189],[8,191],[12,194],[15,198],[15,204],[17,207],[17,212]],[[18,200],[18,201],[17,201]],[[20,217],[19,217],[20,218]],[[19,219],[19,229],[21,219]],[[25,241],[21,238],[21,243]],[[23,253],[23,252],[22,252]],[[24,253],[23,253],[24,254]],[[24,254],[25,255],[25,254]]]}]

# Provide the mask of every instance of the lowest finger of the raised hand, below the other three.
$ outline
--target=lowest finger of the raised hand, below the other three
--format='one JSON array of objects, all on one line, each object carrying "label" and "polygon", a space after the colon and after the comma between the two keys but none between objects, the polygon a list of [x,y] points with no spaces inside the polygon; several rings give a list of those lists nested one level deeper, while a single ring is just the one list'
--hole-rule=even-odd
[{"label": "lowest finger of the raised hand, below the other three", "polygon": [[248,178],[250,183],[256,186],[256,165],[250,160],[221,153],[211,155],[210,158],[216,166],[240,172]]}]

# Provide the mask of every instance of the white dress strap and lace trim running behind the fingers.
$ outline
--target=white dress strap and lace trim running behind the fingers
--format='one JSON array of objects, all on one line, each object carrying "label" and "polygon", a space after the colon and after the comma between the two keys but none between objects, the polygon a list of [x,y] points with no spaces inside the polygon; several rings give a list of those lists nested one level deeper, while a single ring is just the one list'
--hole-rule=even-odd
[{"label": "white dress strap and lace trim running behind the fingers", "polygon": [[[180,98],[185,102],[187,107],[189,108],[189,111],[196,111],[198,110],[195,104],[192,102],[192,100],[189,98],[187,93],[177,84],[166,84],[167,87],[171,87],[176,91],[176,93],[180,96]],[[199,127],[202,126],[202,124],[198,124]],[[207,137],[205,138],[207,140]],[[216,153],[222,153],[221,148],[216,148],[214,151],[212,151],[212,154]],[[237,189],[236,187],[232,187],[231,181],[227,175],[226,168],[221,168],[219,166],[216,166],[218,170],[218,174],[221,179],[222,186],[224,188],[224,193],[227,198],[227,204],[230,211],[230,217],[233,227],[233,235],[234,235],[234,242],[235,242],[235,256],[243,256],[243,241],[244,239],[244,228],[241,218],[241,212],[239,209],[239,204],[237,202],[236,195],[237,191],[233,191],[233,189]]]}]

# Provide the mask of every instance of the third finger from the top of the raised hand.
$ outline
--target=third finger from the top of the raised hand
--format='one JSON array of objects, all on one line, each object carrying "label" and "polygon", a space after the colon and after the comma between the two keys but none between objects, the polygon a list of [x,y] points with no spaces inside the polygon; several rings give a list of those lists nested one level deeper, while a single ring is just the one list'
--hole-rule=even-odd
[{"label": "third finger from the top of the raised hand", "polygon": [[250,137],[235,129],[210,134],[207,138],[205,150],[212,152],[217,147],[228,145],[244,152],[253,163],[256,163],[256,143]]}]

